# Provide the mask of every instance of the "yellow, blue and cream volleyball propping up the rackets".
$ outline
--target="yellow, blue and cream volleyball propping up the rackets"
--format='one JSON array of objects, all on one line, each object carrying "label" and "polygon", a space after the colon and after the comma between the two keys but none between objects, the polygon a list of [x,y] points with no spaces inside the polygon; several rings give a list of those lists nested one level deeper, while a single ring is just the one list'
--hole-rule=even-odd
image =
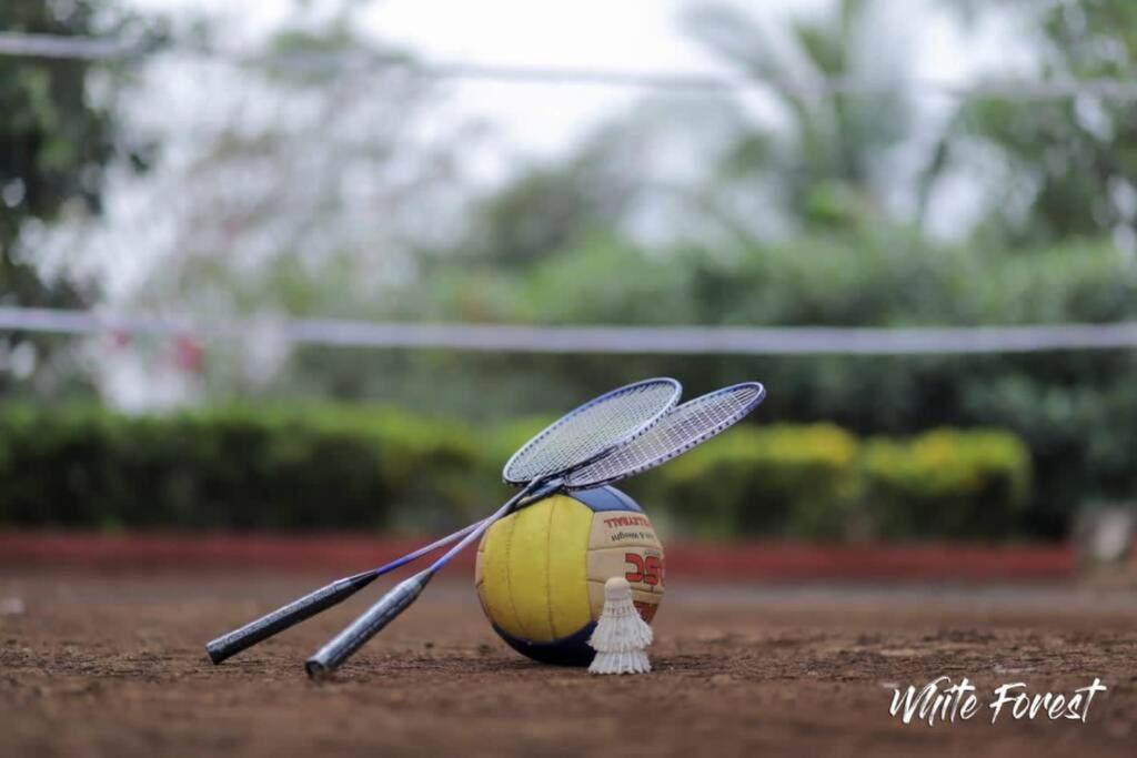
[{"label": "yellow, blue and cream volleyball propping up the rackets", "polygon": [[474,584],[493,630],[534,660],[587,666],[604,583],[623,576],[640,616],[663,599],[663,545],[634,500],[615,488],[555,494],[491,526]]}]

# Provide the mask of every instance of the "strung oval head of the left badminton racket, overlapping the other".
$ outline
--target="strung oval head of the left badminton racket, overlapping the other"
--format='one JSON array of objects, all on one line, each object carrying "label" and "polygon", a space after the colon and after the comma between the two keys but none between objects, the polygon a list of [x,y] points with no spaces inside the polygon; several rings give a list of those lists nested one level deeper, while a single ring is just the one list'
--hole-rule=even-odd
[{"label": "strung oval head of the left badminton racket, overlapping the other", "polygon": [[562,474],[626,442],[679,399],[679,382],[647,380],[592,400],[534,436],[505,465],[507,482],[525,484]]}]

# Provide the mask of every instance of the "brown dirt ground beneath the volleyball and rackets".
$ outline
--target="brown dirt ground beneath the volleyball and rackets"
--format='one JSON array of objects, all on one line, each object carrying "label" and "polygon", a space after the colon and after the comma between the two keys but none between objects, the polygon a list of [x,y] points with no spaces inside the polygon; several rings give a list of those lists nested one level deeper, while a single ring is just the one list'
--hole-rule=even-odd
[{"label": "brown dirt ground beneath the volleyball and rackets", "polygon": [[[376,592],[221,666],[204,643],[331,577],[0,573],[0,756],[1128,756],[1132,590],[671,586],[652,674],[530,663],[435,583],[334,681],[302,660]],[[674,584],[674,582],[673,582]],[[969,677],[929,726],[893,689]],[[990,723],[999,684],[1109,689],[1086,723]]]}]

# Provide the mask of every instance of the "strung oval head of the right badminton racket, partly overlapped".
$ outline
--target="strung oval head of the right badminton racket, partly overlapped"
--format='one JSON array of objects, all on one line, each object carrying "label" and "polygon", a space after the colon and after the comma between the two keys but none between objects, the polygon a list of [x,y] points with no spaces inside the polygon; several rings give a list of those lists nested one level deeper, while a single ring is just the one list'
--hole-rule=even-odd
[{"label": "strung oval head of the right badminton racket, partly overlapped", "polygon": [[645,434],[572,472],[572,490],[599,486],[654,468],[733,426],[757,407],[765,389],[756,383],[736,384],[684,402]]}]

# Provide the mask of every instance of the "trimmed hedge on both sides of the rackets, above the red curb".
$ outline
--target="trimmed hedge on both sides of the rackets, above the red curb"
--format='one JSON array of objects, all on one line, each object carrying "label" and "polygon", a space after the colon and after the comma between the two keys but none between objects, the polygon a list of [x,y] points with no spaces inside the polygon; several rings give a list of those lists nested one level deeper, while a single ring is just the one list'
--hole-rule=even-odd
[{"label": "trimmed hedge on both sides of the rackets, above the red curb", "polygon": [[[487,431],[355,407],[8,409],[0,523],[437,531],[501,499],[501,461],[543,423]],[[672,533],[1005,539],[1021,526],[1030,460],[1003,432],[862,442],[828,424],[747,425],[626,486]]]}]

